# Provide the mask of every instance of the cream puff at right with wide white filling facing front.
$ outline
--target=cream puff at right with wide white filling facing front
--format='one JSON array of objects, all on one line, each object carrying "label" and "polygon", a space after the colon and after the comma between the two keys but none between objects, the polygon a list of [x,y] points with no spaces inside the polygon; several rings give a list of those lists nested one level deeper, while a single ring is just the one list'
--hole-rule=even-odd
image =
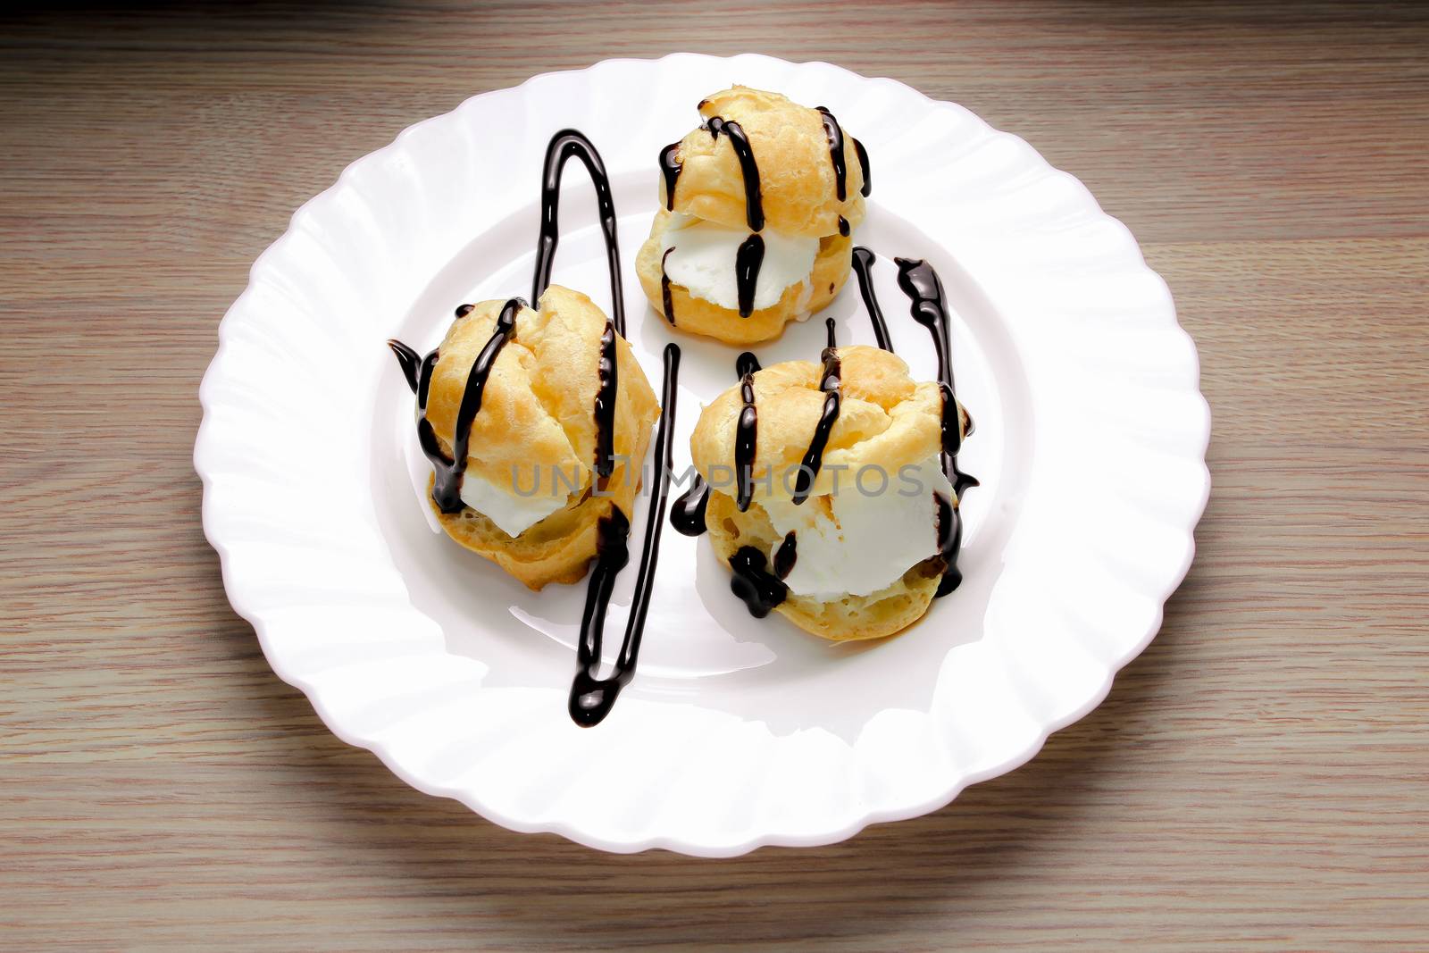
[{"label": "cream puff at right with wide white filling facing front", "polygon": [[887,350],[830,343],[822,366],[763,370],[752,357],[690,439],[732,587],[756,616],[773,609],[823,639],[905,629],[956,559],[943,454],[967,434],[966,411]]}]

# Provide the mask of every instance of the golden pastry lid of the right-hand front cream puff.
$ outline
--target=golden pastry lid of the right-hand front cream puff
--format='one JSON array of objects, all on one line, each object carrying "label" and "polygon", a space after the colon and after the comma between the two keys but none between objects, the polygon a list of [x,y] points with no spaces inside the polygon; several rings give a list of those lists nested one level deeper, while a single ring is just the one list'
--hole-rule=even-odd
[{"label": "golden pastry lid of the right-hand front cream puff", "polygon": [[[920,463],[942,447],[943,399],[936,383],[915,381],[902,357],[877,347],[853,344],[839,347],[837,353],[843,396],[823,467],[812,487],[815,496],[833,492],[836,466],[847,467],[839,477],[840,486],[847,486],[862,466],[880,466],[892,477],[900,466]],[[803,460],[823,413],[822,376],[823,366],[807,360],[772,364],[755,373],[759,413],[755,502],[770,493],[790,496],[782,477],[786,469]],[[729,474],[735,467],[735,436],[743,407],[736,381],[704,409],[690,436],[694,469],[727,496],[735,494]],[[723,479],[712,477],[714,466],[729,467],[720,470]],[[757,479],[770,466],[775,473],[772,490]],[[793,477],[787,483],[793,483]]]}]

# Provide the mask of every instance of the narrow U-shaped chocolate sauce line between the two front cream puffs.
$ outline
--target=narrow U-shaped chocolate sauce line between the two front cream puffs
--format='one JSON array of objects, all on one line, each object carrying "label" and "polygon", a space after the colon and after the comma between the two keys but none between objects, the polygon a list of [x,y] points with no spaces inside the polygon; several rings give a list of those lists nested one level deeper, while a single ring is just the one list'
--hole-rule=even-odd
[{"label": "narrow U-shaped chocolate sauce line between the two front cream puffs", "polygon": [[650,592],[654,586],[654,567],[660,559],[660,527],[664,523],[664,506],[670,493],[670,439],[674,436],[674,401],[679,394],[679,376],[680,347],[679,344],[666,344],[660,426],[654,434],[656,493],[650,500],[650,512],[646,517],[644,546],[640,550],[640,569],[636,573],[624,642],[620,643],[614,670],[604,679],[597,677],[600,642],[616,574],[630,560],[626,540],[630,533],[630,522],[619,506],[612,504],[610,514],[597,523],[596,566],[590,573],[590,584],[586,590],[586,609],[580,620],[580,644],[576,652],[576,677],[572,680],[567,703],[572,720],[582,727],[600,724],[610,713],[620,690],[630,684],[634,677],[634,669],[640,659],[644,619],[650,609]]}]

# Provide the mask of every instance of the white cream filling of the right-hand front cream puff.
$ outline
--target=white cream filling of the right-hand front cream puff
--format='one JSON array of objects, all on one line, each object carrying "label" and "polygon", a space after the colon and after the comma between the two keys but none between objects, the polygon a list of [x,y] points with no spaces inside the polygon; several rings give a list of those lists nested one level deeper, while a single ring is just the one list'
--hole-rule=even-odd
[{"label": "white cream filling of the right-hand front cream puff", "polygon": [[[837,492],[826,507],[809,499],[795,506],[789,499],[762,499],[780,536],[795,533],[797,554],[785,586],[796,596],[867,596],[887,587],[903,573],[937,554],[937,509],[933,493],[953,499],[939,454],[920,463],[856,480],[856,471],[837,474]],[[769,552],[773,563],[775,543]]]}]

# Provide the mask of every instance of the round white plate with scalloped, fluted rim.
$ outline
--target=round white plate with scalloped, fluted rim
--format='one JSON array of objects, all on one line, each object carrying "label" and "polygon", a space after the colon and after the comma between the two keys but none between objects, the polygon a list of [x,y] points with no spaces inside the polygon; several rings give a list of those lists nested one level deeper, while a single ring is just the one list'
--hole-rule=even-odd
[{"label": "round white plate with scalloped, fluted rim", "polygon": [[[872,160],[856,241],[899,353],[935,376],[895,254],[929,259],[953,321],[963,586],[902,636],[835,646],[729,592],[666,532],[634,683],[594,729],[566,713],[584,583],[529,593],[433,532],[412,394],[383,340],[434,346],[463,301],[526,294],[547,139],[584,130],[620,214],[630,341],[684,351],[676,470],[735,349],[644,306],[634,251],[656,154],[732,83],[829,106]],[[593,191],[567,170],[554,280],[609,306]],[[872,343],[857,289],[830,309]],[[757,349],[817,354],[823,321]],[[303,206],[253,266],[203,381],[194,464],[233,607],[342,739],[516,830],[604,850],[727,856],[823,844],[933,810],[1089,712],[1156,633],[1209,492],[1195,346],[1136,241],[1086,189],[967,110],[886,79],[762,56],[609,60],[419,123]],[[632,517],[637,552],[644,509]],[[607,622],[619,647],[634,567]]]}]

